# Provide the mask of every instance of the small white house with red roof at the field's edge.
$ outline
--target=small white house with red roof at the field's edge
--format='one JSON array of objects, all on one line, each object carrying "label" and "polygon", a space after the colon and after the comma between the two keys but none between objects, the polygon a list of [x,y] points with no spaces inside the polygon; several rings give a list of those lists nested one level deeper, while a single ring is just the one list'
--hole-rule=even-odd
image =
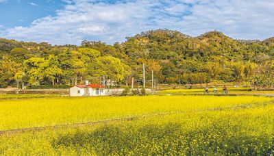
[{"label": "small white house with red roof at the field's edge", "polygon": [[104,96],[105,87],[101,85],[76,85],[69,89],[70,96]]}]

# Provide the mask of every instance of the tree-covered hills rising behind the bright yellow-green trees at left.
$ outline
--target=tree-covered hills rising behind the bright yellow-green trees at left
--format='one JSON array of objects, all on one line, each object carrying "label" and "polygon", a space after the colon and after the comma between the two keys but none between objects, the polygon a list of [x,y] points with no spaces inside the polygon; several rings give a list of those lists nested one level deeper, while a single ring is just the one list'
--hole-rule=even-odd
[{"label": "tree-covered hills rising behind the bright yellow-green trees at left", "polygon": [[[251,84],[255,83],[251,80],[253,77],[259,77],[261,81],[266,81],[266,77],[274,77],[274,38],[263,41],[235,40],[219,31],[191,37],[179,31],[156,29],[113,45],[84,40],[81,46],[53,46],[46,42],[0,39],[1,56],[12,55],[12,49],[15,48],[24,49],[23,60],[16,62],[24,62],[31,57],[58,57],[61,53],[65,55],[64,51],[70,53],[80,47],[100,51],[101,56],[119,58],[131,68],[132,74],[129,76],[136,79],[142,79],[141,64],[145,63],[147,72],[154,70],[160,83],[223,81]],[[80,76],[86,77],[84,74]]]}]

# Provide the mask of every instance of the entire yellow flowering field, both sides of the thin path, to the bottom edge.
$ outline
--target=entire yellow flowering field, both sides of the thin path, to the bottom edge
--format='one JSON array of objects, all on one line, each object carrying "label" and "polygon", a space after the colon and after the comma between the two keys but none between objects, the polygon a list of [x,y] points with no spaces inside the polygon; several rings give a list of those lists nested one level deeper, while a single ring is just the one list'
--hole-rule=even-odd
[{"label": "entire yellow flowering field, both sides of the thin path, to the bottom edge", "polygon": [[0,154],[267,155],[273,103],[256,96],[3,100]]}]

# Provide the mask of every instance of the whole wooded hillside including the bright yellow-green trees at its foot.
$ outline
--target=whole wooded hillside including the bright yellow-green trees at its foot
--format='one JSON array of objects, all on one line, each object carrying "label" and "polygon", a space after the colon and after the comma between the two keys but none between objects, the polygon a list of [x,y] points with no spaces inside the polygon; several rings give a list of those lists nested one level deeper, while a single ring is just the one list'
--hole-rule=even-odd
[{"label": "whole wooded hillside including the bright yellow-green trees at its foot", "polygon": [[25,85],[72,85],[103,75],[126,83],[131,77],[142,80],[143,63],[159,83],[274,83],[274,38],[234,40],[219,31],[191,37],[158,29],[113,45],[84,40],[81,46],[53,46],[0,38],[0,57],[2,88],[15,86],[16,79]]}]

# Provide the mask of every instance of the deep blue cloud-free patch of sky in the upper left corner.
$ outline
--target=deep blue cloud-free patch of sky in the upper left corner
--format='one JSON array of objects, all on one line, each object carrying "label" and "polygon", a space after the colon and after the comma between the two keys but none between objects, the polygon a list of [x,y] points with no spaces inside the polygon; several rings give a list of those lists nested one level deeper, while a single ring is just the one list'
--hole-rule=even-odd
[{"label": "deep blue cloud-free patch of sky in the upper left corner", "polygon": [[55,16],[55,10],[62,9],[65,4],[64,1],[52,0],[2,0],[0,24],[5,27],[27,27],[38,18]]}]

